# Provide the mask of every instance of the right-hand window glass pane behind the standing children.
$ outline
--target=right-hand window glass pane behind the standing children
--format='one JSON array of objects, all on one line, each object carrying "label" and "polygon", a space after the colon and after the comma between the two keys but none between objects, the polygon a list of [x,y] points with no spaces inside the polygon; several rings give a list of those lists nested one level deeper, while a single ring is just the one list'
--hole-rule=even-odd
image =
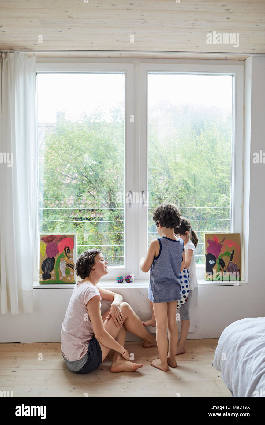
[{"label": "right-hand window glass pane behind the standing children", "polygon": [[205,263],[205,232],[230,231],[231,75],[148,74],[148,244],[163,201],[191,221]]}]

